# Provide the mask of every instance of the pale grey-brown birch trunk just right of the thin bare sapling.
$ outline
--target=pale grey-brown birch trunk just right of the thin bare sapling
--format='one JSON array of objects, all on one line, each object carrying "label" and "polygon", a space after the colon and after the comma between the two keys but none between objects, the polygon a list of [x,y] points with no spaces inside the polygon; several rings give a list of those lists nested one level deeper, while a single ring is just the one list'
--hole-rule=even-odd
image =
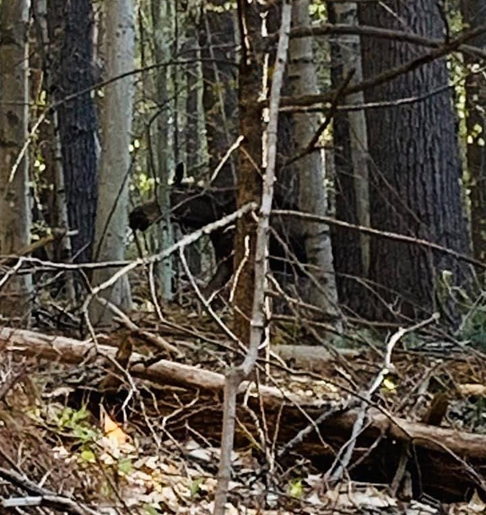
[{"label": "pale grey-brown birch trunk just right of the thin bare sapling", "polygon": [[[295,0],[292,6],[294,27],[310,25],[309,0]],[[289,79],[294,95],[318,92],[313,63],[312,39],[294,38],[290,42]],[[319,116],[311,113],[295,114],[294,139],[300,147],[307,145],[319,127]],[[299,170],[299,209],[307,213],[327,214],[324,185],[324,166],[320,152],[312,152],[296,163]],[[323,315],[338,318],[337,289],[332,263],[329,227],[320,222],[305,222],[305,248],[308,263],[314,265],[312,273],[319,287],[311,287],[309,299],[319,306]],[[340,325],[340,323],[337,323]]]}]

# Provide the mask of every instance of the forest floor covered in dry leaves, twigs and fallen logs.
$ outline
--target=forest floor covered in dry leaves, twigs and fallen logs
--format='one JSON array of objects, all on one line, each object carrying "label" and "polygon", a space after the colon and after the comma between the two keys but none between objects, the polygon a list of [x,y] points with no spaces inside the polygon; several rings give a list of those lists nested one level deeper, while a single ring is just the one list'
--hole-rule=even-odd
[{"label": "forest floor covered in dry leaves, twigs and fallen logs", "polygon": [[[240,357],[190,306],[130,319],[96,344],[48,317],[0,330],[0,512],[211,513],[222,374]],[[276,354],[240,399],[227,513],[483,512],[486,356],[438,326],[391,356],[395,330],[348,329],[333,352],[273,324]]]}]

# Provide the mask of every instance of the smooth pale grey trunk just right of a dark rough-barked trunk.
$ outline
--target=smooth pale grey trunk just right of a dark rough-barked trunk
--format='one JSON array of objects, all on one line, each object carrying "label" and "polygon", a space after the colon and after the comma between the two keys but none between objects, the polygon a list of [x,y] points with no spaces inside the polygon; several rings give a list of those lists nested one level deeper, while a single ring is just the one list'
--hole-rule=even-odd
[{"label": "smooth pale grey trunk just right of a dark rough-barked trunk", "polygon": [[[132,0],[106,0],[105,71],[116,77],[133,69],[135,26]],[[105,89],[102,126],[102,154],[99,168],[99,204],[95,231],[95,259],[122,260],[128,227],[128,173],[130,167],[130,131],[132,119],[133,77],[118,79]],[[113,269],[96,270],[93,283],[99,284],[113,274]],[[123,308],[131,306],[130,286],[124,276],[103,296]],[[94,322],[108,322],[111,312],[93,302]]]}]

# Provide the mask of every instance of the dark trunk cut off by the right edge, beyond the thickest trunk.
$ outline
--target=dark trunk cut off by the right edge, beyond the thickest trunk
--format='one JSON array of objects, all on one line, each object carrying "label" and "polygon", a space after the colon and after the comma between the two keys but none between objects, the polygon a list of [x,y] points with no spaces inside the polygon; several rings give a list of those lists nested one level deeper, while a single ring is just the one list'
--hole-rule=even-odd
[{"label": "dark trunk cut off by the right edge, beyond the thickest trunk", "polygon": [[[483,0],[462,0],[463,22],[475,28],[486,21]],[[470,44],[486,48],[486,33]],[[464,54],[464,62],[473,65],[477,58]],[[467,168],[471,190],[471,236],[474,257],[486,260],[486,79],[484,73],[466,77]]]}]

